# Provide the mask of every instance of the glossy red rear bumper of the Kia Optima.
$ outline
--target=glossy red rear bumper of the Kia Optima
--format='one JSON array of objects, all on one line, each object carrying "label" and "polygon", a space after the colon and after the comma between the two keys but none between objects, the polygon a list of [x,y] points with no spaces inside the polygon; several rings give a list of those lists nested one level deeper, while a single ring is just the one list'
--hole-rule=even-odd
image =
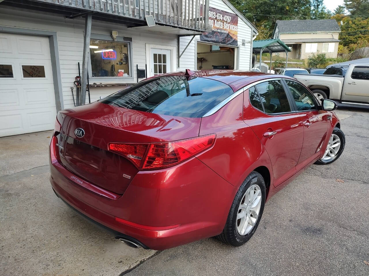
[{"label": "glossy red rear bumper of the Kia Optima", "polygon": [[50,182],[63,201],[114,237],[146,249],[163,250],[220,234],[236,193],[196,158],[165,170],[140,171],[123,195],[85,180],[78,183],[59,166],[51,152]]}]

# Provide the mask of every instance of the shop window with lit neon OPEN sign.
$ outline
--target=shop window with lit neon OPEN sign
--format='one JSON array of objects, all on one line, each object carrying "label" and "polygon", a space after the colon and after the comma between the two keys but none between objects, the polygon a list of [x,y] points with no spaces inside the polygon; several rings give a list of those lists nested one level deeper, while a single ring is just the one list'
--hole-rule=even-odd
[{"label": "shop window with lit neon OPEN sign", "polygon": [[127,42],[90,40],[92,77],[130,77]]}]

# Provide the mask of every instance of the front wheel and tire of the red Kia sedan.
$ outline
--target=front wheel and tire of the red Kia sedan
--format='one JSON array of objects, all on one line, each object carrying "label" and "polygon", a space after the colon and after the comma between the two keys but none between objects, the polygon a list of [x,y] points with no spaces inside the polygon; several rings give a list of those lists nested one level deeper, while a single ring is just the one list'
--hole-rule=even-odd
[{"label": "front wheel and tire of the red Kia sedan", "polygon": [[345,149],[345,143],[346,138],[344,132],[338,127],[335,127],[323,157],[318,159],[314,164],[326,165],[337,160]]}]

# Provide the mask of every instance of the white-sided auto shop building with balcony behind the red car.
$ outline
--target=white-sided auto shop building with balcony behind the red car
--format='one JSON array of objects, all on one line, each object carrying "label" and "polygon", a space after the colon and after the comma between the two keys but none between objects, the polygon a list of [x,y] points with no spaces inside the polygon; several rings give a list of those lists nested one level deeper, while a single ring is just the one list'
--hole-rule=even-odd
[{"label": "white-sided auto shop building with balcony behind the red car", "polygon": [[[127,1],[123,0],[0,2],[0,137],[52,130],[58,110],[75,106],[74,81],[78,75],[83,78],[84,68],[86,20],[82,16],[89,10],[93,11],[87,46],[91,54],[86,64],[91,102],[142,80],[137,68],[147,69],[147,77],[186,68],[199,70],[201,64],[202,68],[249,70],[256,28],[227,0],[207,1],[195,1],[199,3],[191,10],[187,3],[193,1],[164,0],[158,5],[160,13],[153,7],[150,13],[147,2],[136,0],[133,9],[132,2],[131,10],[127,7],[126,16],[122,9]],[[99,8],[99,3],[104,7]],[[211,29],[207,16],[202,16],[208,7],[237,15],[237,45],[201,42],[199,34]],[[189,13],[195,10],[199,16],[191,18]],[[154,15],[154,27],[146,25],[143,13]],[[199,54],[200,48],[208,53]],[[200,57],[205,54],[206,61]]]}]

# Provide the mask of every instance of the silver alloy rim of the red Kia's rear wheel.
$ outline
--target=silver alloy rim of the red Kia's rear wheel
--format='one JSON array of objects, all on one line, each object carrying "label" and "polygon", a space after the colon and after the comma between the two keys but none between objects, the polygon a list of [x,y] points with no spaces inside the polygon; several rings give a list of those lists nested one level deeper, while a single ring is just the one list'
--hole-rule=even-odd
[{"label": "silver alloy rim of the red Kia's rear wheel", "polygon": [[237,232],[245,236],[251,232],[258,221],[262,203],[261,188],[259,185],[251,185],[242,197],[237,212]]}]

